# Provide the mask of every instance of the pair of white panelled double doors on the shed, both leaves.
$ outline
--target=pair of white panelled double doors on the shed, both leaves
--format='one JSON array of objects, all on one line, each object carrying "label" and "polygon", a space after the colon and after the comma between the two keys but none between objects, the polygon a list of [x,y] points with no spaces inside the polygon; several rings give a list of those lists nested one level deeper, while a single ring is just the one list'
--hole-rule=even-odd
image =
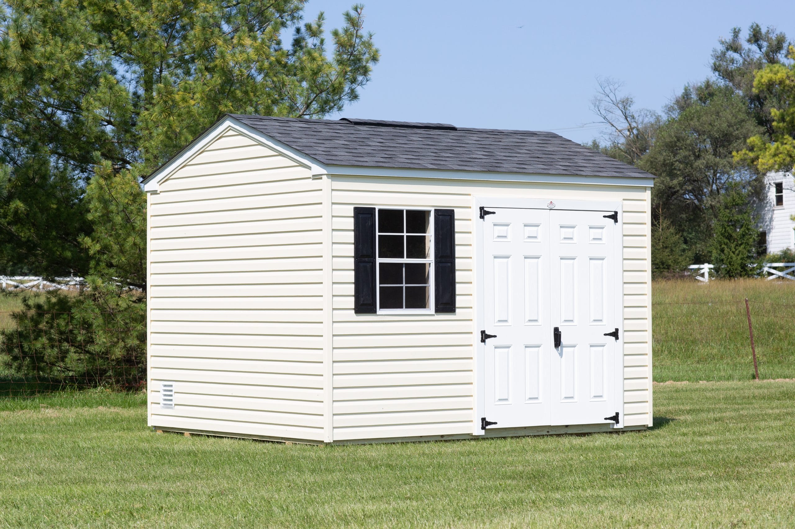
[{"label": "pair of white panelled double doors on the shed, both leaves", "polygon": [[487,210],[494,211],[483,221],[487,421],[611,423],[619,347],[605,334],[620,318],[615,222],[606,211]]}]

